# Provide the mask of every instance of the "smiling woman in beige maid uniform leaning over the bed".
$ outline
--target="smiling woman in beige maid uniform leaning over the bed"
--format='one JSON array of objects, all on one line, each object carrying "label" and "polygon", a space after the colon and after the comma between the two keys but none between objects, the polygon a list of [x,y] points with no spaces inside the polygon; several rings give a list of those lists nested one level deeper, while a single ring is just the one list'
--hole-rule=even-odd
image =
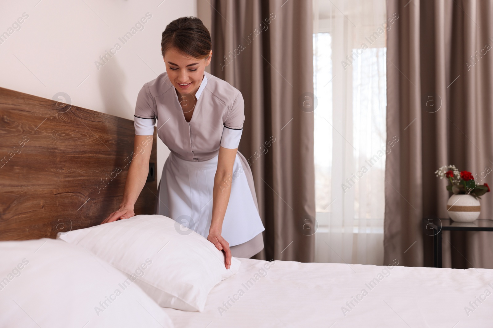
[{"label": "smiling woman in beige maid uniform leaning over the bed", "polygon": [[231,256],[250,258],[264,248],[265,228],[249,165],[237,151],[245,120],[243,96],[204,71],[211,48],[209,31],[195,17],[178,18],[162,33],[166,73],[139,92],[134,148],[140,155],[130,164],[120,208],[103,223],[135,215],[157,119],[157,135],[171,153],[163,167],[156,213],[206,237],[224,251],[229,268]]}]

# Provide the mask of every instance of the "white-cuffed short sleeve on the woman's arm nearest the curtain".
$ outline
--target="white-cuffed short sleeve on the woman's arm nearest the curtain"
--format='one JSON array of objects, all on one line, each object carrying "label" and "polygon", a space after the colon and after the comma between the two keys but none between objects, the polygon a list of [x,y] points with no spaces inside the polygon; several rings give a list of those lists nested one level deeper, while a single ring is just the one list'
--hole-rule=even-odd
[{"label": "white-cuffed short sleeve on the woman's arm nearest the curtain", "polygon": [[240,93],[236,96],[231,111],[224,121],[224,128],[221,136],[221,147],[235,149],[240,145],[243,132],[243,122],[245,121],[245,102]]}]

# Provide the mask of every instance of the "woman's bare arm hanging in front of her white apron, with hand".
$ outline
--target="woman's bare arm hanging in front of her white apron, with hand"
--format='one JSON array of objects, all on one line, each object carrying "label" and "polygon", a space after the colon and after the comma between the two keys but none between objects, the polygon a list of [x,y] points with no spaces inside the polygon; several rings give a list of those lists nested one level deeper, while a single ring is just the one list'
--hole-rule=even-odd
[{"label": "woman's bare arm hanging in front of her white apron, with hand", "polygon": [[235,163],[238,148],[229,149],[220,147],[217,158],[217,170],[214,176],[212,189],[212,221],[207,239],[219,250],[224,250],[226,268],[231,267],[231,251],[229,243],[222,238],[222,222],[228,207],[231,183],[233,182],[233,164]]}]

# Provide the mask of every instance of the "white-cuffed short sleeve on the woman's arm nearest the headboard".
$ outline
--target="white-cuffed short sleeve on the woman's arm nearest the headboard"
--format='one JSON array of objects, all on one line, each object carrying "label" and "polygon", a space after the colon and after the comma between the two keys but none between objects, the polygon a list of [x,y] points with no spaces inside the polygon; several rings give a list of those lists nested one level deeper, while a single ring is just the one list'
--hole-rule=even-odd
[{"label": "white-cuffed short sleeve on the woman's arm nearest the headboard", "polygon": [[151,136],[154,134],[154,124],[156,123],[155,109],[154,98],[146,83],[139,91],[135,105],[134,126],[136,135]]}]

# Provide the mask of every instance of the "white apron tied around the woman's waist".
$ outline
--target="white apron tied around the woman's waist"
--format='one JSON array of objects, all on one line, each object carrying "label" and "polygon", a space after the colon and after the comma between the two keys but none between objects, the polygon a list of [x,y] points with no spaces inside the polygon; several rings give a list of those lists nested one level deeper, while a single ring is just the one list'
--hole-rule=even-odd
[{"label": "white apron tied around the woman's waist", "polygon": [[[171,152],[159,183],[157,214],[171,217],[207,238],[212,220],[212,188],[217,157],[194,162],[180,159]],[[244,243],[265,230],[247,176],[252,181],[246,159],[238,152],[221,233],[230,246]]]}]

